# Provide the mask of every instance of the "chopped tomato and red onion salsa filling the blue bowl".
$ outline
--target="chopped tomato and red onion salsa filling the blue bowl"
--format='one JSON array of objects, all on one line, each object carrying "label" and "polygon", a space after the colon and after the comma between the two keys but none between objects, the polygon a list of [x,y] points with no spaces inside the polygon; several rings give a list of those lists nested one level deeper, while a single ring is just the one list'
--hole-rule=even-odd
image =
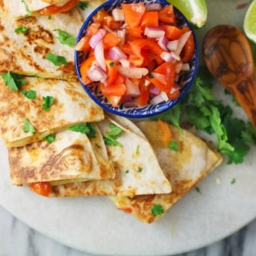
[{"label": "chopped tomato and red onion salsa filling the blue bowl", "polygon": [[129,108],[178,98],[179,74],[190,70],[195,43],[188,27],[177,26],[172,5],[138,3],[98,11],[75,49],[88,54],[82,82]]}]

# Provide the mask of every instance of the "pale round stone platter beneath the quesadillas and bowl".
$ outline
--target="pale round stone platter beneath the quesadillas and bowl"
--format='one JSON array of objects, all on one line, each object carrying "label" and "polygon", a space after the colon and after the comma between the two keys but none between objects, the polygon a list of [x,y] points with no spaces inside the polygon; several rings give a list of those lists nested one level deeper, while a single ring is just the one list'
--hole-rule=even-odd
[{"label": "pale round stone platter beneath the quesadillas and bowl", "polygon": [[[196,31],[200,44],[213,26],[242,28],[245,9],[236,10],[235,2],[207,1],[207,24]],[[225,103],[230,100],[221,86],[215,89]],[[230,106],[237,117],[246,119],[240,108],[231,102]],[[202,194],[191,190],[164,218],[145,225],[116,210],[108,198],[46,199],[26,187],[11,186],[7,150],[1,142],[0,204],[39,232],[82,251],[105,255],[181,253],[220,240],[256,217],[255,155],[256,147],[251,146],[243,164],[224,163],[201,182]],[[231,185],[233,178],[236,183]]]}]

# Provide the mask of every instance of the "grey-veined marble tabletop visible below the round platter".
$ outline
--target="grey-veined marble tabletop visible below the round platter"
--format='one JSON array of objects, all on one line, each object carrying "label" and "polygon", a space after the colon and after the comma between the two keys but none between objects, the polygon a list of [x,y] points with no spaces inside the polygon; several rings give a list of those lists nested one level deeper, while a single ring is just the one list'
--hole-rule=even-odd
[{"label": "grey-veined marble tabletop visible below the round platter", "polygon": [[[229,238],[176,256],[255,256],[256,220]],[[0,206],[0,256],[92,256],[63,246],[11,216]]]}]

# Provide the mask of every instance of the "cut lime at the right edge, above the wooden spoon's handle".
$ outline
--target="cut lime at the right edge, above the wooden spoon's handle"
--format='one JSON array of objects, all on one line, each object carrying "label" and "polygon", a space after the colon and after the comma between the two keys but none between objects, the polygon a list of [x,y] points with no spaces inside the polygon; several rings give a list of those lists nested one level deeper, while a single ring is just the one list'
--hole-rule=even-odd
[{"label": "cut lime at the right edge, above the wooden spoon's handle", "polygon": [[244,32],[256,44],[256,0],[252,1],[244,18]]}]

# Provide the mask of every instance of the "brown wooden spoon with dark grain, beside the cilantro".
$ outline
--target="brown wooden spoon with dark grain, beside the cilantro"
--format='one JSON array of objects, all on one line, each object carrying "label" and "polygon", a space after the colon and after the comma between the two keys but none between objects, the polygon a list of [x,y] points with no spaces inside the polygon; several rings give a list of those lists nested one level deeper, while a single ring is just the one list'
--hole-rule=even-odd
[{"label": "brown wooden spoon with dark grain, beside the cilantro", "polygon": [[251,48],[244,33],[220,25],[208,31],[203,55],[210,73],[237,99],[256,128],[256,82]]}]

